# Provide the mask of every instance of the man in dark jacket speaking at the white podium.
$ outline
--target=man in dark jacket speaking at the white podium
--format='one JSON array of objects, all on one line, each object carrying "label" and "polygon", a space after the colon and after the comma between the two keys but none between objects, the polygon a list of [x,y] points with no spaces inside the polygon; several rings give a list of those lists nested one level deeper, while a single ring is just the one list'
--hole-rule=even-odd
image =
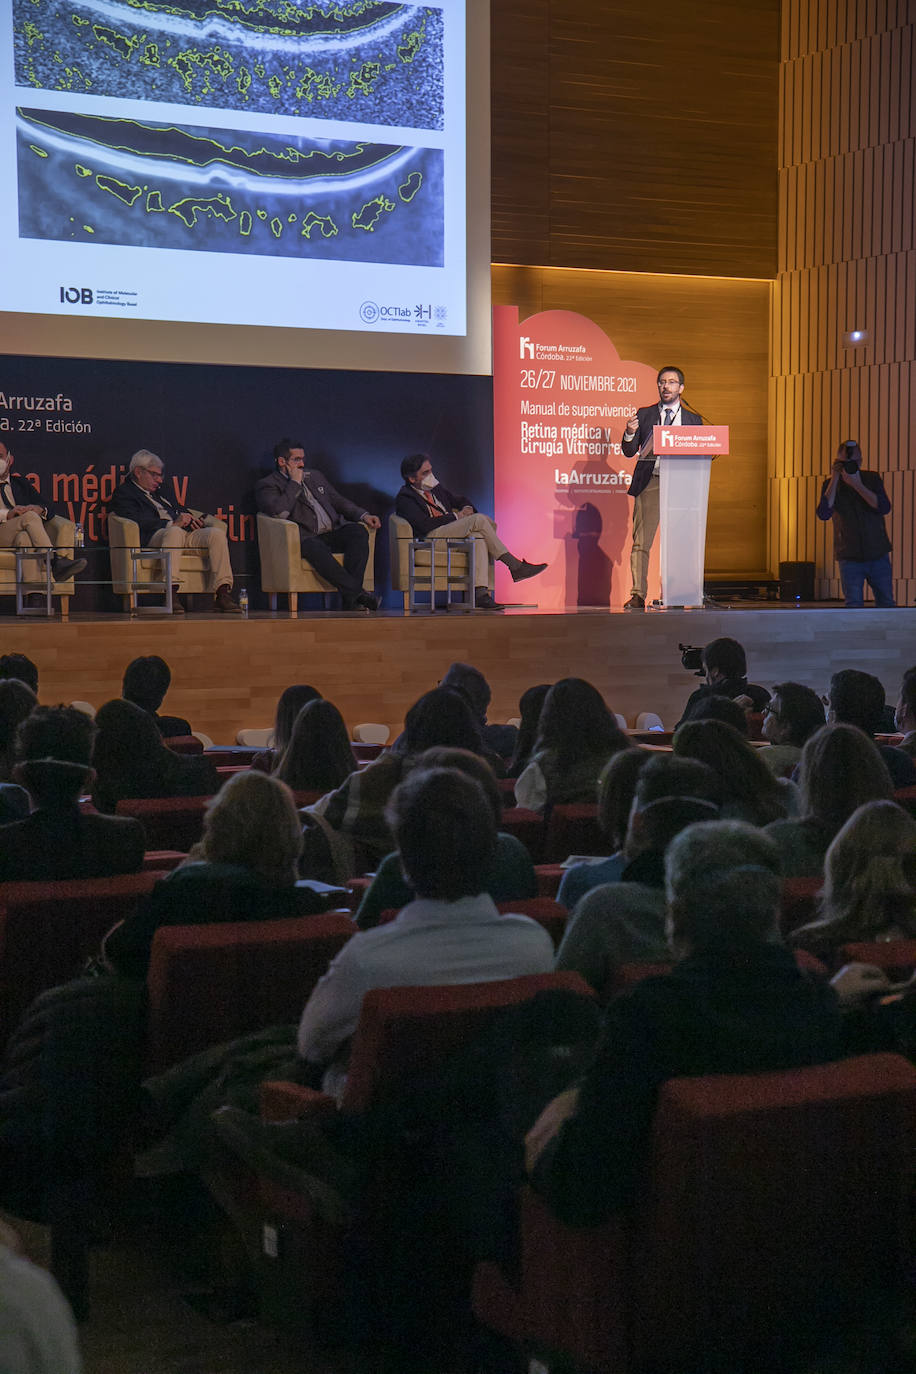
[{"label": "man in dark jacket speaking at the white podium", "polygon": [[633,547],[630,550],[632,587],[630,599],[623,610],[645,610],[648,555],[658,533],[659,475],[658,458],[652,453],[652,429],[655,425],[665,425],[670,429],[677,425],[703,423],[700,415],[687,411],[681,405],[684,374],[680,367],[663,367],[656,382],[658,405],[641,405],[639,411],[633,411],[628,416],[621,440],[625,458],[634,458],[644,451],[648,453],[647,458],[640,458],[630,482],[630,496],[634,497]]}]

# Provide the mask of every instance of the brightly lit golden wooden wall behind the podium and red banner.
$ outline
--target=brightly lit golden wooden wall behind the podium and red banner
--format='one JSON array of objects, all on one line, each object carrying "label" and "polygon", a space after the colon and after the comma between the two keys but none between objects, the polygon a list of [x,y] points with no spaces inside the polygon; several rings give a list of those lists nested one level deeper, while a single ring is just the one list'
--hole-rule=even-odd
[{"label": "brightly lit golden wooden wall behind the podium and red banner", "polygon": [[[731,455],[713,464],[706,569],[759,574],[766,563],[766,394],[769,282],[559,268],[493,268],[493,302],[578,311],[622,359],[676,363],[685,396],[731,426]],[[622,429],[622,426],[621,426]]]}]

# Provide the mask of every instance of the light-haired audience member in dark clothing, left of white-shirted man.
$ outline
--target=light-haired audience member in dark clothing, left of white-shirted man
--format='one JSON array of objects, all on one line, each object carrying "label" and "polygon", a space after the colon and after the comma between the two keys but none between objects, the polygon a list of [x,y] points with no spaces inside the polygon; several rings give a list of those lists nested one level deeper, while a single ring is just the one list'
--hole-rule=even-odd
[{"label": "light-haired audience member in dark clothing, left of white-shirted man", "polygon": [[207,807],[203,837],[104,938],[104,960],[144,978],[159,926],[279,921],[324,911],[328,899],[297,886],[302,827],[290,789],[262,772],[235,774]]}]

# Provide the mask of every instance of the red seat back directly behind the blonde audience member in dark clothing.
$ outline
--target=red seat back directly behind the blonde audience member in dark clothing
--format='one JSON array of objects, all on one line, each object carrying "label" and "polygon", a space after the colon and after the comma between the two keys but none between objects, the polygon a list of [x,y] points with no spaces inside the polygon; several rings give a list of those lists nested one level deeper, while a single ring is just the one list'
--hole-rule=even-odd
[{"label": "red seat back directly behind the blonde audience member in dark clothing", "polygon": [[297,1022],[354,930],[350,918],[336,911],[162,926],[147,974],[150,1070],[268,1025]]}]

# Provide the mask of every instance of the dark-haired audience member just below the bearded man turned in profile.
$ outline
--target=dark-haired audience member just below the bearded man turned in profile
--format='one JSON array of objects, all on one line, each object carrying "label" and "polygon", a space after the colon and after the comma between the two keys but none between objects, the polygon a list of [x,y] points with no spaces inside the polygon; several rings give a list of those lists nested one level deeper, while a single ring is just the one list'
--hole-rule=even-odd
[{"label": "dark-haired audience member just below the bearded man turned in profile", "polygon": [[724,820],[765,826],[798,809],[798,791],[786,778],[773,778],[757,750],[722,720],[688,720],[678,725],[673,750],[678,758],[709,764],[722,786]]}]

